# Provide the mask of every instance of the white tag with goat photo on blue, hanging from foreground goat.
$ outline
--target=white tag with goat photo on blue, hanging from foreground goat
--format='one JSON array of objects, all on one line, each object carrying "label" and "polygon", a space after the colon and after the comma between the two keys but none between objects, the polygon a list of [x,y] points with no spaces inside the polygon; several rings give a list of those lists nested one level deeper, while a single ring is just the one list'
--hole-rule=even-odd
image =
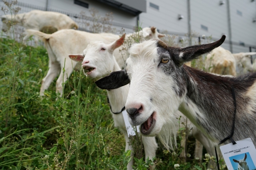
[{"label": "white tag with goat photo on blue, hanging from foreground goat", "polygon": [[220,149],[228,170],[256,170],[256,149],[252,139],[225,144]]}]

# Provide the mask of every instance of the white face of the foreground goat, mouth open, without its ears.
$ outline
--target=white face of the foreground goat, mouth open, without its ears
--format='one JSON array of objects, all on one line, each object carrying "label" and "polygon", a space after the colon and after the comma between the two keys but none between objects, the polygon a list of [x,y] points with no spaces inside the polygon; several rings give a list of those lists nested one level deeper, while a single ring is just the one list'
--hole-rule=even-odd
[{"label": "white face of the foreground goat, mouth open, without its ears", "polygon": [[[141,133],[153,136],[169,122],[165,115],[173,115],[182,102],[174,91],[179,88],[175,78],[171,72],[166,72],[176,69],[173,68],[175,64],[171,63],[167,50],[160,49],[154,40],[135,44],[129,52],[126,73],[130,79],[130,90],[125,106],[136,108],[139,112],[130,115],[129,121],[134,126],[143,124]],[[161,62],[163,58],[169,62]]]}]

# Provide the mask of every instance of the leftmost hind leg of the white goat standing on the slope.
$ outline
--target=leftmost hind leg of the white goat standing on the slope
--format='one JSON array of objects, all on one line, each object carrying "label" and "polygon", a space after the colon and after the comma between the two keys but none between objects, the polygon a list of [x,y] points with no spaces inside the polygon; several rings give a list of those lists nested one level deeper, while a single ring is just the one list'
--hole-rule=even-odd
[{"label": "leftmost hind leg of the white goat standing on the slope", "polygon": [[58,62],[49,61],[49,70],[46,76],[42,80],[40,95],[43,96],[45,90],[47,90],[52,81],[58,76],[61,68]]}]

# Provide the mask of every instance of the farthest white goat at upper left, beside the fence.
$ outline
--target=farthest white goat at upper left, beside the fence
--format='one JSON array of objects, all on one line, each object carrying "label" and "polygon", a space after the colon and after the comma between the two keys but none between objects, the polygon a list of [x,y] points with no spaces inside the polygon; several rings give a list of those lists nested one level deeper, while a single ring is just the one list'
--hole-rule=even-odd
[{"label": "farthest white goat at upper left, beside the fence", "polygon": [[[21,13],[15,15],[1,16],[3,25],[2,31],[6,32],[10,28],[11,20],[25,29],[35,29],[37,31],[58,31],[61,29],[78,29],[74,20],[69,16],[57,12],[32,10],[28,13]],[[28,39],[30,35],[26,35],[24,40]],[[37,41],[37,38],[35,39]]]}]

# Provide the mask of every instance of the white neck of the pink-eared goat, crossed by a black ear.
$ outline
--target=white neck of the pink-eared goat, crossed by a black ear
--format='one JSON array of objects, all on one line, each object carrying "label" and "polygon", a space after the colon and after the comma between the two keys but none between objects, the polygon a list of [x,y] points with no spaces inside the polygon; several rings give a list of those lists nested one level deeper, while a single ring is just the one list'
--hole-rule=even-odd
[{"label": "white neck of the pink-eared goat, crossed by a black ear", "polygon": [[[119,71],[121,68],[115,62],[113,66],[113,71]],[[129,84],[126,86],[122,86],[121,88],[108,90],[108,98],[109,98],[109,104],[111,105],[111,110],[113,112],[120,112],[122,108],[125,106],[126,99],[128,96],[129,91]]]}]

